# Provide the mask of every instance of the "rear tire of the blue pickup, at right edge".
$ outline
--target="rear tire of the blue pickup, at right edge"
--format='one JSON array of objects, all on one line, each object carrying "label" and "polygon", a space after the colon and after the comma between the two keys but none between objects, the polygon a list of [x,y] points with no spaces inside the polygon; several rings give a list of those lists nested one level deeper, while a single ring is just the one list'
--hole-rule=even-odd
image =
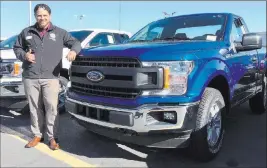
[{"label": "rear tire of the blue pickup, at right edge", "polygon": [[249,106],[254,114],[263,114],[267,111],[266,75],[262,79],[262,91],[249,99]]}]

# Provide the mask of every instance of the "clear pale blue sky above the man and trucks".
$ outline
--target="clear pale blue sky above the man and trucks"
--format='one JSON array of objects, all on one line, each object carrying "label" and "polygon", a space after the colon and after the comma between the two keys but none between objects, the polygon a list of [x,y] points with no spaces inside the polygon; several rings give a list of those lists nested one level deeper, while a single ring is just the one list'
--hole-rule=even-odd
[{"label": "clear pale blue sky above the man and trucks", "polygon": [[[242,16],[250,31],[266,31],[266,1],[32,1],[52,10],[52,23],[66,30],[115,29],[136,33],[148,23],[176,15],[230,12]],[[121,8],[120,8],[121,7]],[[121,10],[120,10],[121,9]],[[77,15],[85,15],[82,20]],[[1,37],[18,34],[29,26],[28,1],[1,1]]]}]

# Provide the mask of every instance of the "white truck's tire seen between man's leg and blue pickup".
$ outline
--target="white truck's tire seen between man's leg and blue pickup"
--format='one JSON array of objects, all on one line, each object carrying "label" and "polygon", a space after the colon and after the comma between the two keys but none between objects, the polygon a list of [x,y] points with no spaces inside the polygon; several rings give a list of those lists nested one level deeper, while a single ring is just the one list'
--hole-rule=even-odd
[{"label": "white truck's tire seen between man's leg and blue pickup", "polygon": [[60,85],[63,86],[63,90],[59,93],[59,97],[58,97],[58,112],[59,113],[64,113],[65,112],[65,89],[67,87],[68,84],[68,79],[66,79],[63,76],[59,77],[59,82]]}]

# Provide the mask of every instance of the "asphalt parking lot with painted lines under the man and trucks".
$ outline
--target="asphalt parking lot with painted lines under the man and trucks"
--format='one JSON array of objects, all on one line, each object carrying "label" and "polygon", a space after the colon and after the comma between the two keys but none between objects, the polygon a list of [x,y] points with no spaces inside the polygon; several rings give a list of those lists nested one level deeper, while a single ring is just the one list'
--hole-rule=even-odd
[{"label": "asphalt parking lot with painted lines under the man and trucks", "polygon": [[222,151],[209,163],[193,161],[181,150],[119,144],[86,131],[67,113],[60,115],[59,151],[50,151],[47,142],[26,149],[29,113],[1,108],[0,117],[1,167],[266,167],[266,114],[251,114],[248,103],[233,109]]}]

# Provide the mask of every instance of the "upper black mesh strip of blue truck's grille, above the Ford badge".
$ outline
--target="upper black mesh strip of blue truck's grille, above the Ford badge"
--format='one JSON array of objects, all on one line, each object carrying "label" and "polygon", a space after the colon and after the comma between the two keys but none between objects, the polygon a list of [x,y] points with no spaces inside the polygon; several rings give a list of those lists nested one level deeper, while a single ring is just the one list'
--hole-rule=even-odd
[{"label": "upper black mesh strip of blue truck's grille, above the Ford badge", "polygon": [[139,68],[140,62],[135,58],[123,57],[82,57],[79,56],[72,62],[72,65],[91,66],[91,67],[124,67]]}]

